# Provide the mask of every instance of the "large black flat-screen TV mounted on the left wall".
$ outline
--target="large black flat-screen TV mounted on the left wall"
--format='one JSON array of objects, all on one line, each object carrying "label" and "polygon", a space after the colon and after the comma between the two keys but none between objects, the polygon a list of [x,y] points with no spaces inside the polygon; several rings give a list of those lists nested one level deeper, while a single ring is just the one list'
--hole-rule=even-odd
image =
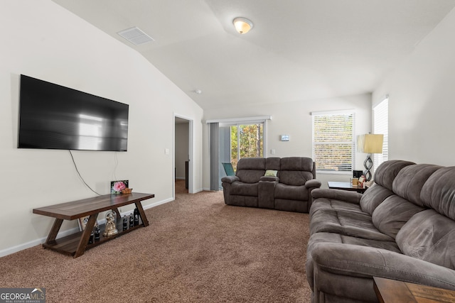
[{"label": "large black flat-screen TV mounted on the left wall", "polygon": [[129,105],[21,75],[18,148],[127,151]]}]

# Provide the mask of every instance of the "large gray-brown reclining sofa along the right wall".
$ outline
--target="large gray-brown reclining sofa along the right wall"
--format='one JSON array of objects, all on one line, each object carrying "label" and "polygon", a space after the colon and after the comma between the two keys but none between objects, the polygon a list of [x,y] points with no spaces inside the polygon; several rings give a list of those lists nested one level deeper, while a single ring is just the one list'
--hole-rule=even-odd
[{"label": "large gray-brown reclining sofa along the right wall", "polygon": [[373,277],[455,290],[455,167],[391,160],[374,180],[311,192],[312,302],[378,302]]}]

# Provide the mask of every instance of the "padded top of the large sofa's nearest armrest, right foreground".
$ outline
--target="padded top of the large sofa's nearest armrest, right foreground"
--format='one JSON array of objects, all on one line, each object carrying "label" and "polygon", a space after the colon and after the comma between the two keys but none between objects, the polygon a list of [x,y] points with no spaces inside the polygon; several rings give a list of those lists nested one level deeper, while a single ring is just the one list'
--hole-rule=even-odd
[{"label": "padded top of the large sofa's nearest armrest, right foreground", "polygon": [[346,243],[318,243],[311,251],[311,257],[314,268],[335,275],[385,277],[455,290],[455,270],[390,250]]}]

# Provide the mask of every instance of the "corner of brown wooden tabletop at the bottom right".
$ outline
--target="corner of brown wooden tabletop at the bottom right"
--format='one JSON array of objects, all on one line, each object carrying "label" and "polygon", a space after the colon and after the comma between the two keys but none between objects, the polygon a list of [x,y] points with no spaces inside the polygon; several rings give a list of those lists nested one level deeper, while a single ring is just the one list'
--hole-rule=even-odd
[{"label": "corner of brown wooden tabletop at the bottom right", "polygon": [[417,285],[409,282],[373,277],[376,296],[380,303],[455,302],[455,291]]}]

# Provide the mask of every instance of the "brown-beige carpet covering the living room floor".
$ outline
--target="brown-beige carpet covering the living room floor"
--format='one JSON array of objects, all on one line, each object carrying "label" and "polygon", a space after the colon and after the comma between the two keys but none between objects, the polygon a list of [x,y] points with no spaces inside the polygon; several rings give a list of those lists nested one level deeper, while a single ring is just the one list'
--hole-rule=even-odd
[{"label": "brown-beige carpet covering the living room floor", "polygon": [[307,214],[227,206],[184,181],[176,192],[146,210],[150,226],[80,258],[41,246],[0,258],[0,287],[45,287],[46,302],[310,302]]}]

